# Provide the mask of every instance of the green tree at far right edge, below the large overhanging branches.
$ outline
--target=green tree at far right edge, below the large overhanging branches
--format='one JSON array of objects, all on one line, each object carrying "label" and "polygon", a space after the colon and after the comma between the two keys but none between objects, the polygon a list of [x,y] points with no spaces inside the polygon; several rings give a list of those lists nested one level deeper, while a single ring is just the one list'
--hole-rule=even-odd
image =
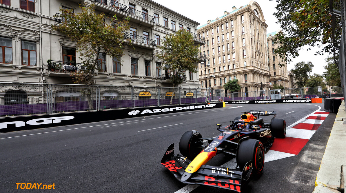
[{"label": "green tree at far right edge, below the large overhanging branches", "polygon": [[329,86],[341,86],[339,68],[334,63],[334,58],[333,57],[327,57],[326,63],[327,63],[327,65],[324,66],[326,71],[323,73],[323,76],[326,79],[327,85],[329,85]]}]

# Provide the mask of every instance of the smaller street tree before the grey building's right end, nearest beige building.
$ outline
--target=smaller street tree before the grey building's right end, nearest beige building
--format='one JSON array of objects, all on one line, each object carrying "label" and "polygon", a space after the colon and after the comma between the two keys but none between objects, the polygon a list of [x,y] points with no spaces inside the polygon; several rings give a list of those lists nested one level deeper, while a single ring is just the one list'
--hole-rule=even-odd
[{"label": "smaller street tree before the grey building's right end, nearest beige building", "polygon": [[162,69],[170,73],[167,74],[168,82],[173,85],[174,93],[174,88],[185,79],[185,71],[197,72],[196,63],[199,61],[200,50],[199,46],[194,45],[190,31],[185,29],[178,30],[175,34],[165,36],[165,38],[163,45],[158,47],[162,53],[157,54],[156,57],[162,60]]}]

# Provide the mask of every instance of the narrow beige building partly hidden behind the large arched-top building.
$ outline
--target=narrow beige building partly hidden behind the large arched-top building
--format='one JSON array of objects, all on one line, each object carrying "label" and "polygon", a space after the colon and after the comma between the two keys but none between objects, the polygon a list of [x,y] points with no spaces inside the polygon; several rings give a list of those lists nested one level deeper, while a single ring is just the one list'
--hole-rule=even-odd
[{"label": "narrow beige building partly hidden behind the large arched-top building", "polygon": [[[275,49],[278,47],[278,45],[274,43],[276,33],[277,32],[274,31],[267,34],[268,68],[270,71],[269,81],[272,82],[273,85],[278,84],[284,86],[285,88],[291,88],[289,74],[287,72],[287,63],[283,63],[280,56],[275,54]],[[282,67],[280,67],[280,63],[283,64]]]}]

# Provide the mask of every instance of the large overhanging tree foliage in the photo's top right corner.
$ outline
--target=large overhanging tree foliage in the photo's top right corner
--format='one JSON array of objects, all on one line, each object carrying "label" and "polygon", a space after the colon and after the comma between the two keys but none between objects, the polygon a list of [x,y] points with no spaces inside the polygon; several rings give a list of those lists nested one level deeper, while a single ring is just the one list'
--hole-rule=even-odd
[{"label": "large overhanging tree foliage in the photo's top right corner", "polygon": [[[283,61],[292,61],[299,56],[299,50],[307,46],[323,48],[317,54],[333,53],[332,17],[329,0],[276,0],[277,12],[274,16],[284,33],[278,33],[275,43],[280,47],[275,50]],[[340,25],[340,22],[336,22]],[[341,28],[340,28],[341,29]],[[335,36],[339,37],[341,30]],[[308,48],[309,50],[310,48]]]}]

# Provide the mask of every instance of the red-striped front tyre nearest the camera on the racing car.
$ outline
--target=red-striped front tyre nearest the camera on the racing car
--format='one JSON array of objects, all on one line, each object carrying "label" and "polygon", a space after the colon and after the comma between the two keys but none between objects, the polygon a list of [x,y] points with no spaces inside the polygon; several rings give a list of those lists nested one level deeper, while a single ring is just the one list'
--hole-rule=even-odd
[{"label": "red-striped front tyre nearest the camera on the racing car", "polygon": [[243,170],[245,164],[252,160],[252,176],[258,177],[264,167],[264,147],[260,140],[244,139],[240,142],[237,152],[237,163]]}]

